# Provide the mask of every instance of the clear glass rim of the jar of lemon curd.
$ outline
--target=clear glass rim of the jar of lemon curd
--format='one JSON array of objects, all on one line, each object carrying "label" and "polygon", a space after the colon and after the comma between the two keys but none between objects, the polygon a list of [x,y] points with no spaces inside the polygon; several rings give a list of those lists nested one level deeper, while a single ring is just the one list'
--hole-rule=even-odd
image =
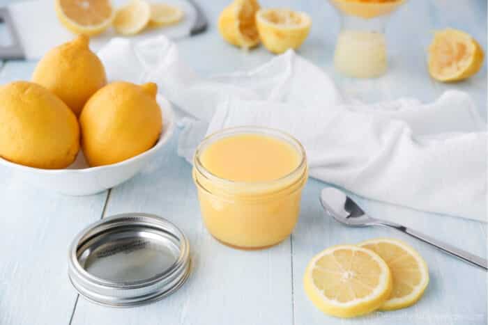
[{"label": "clear glass rim of the jar of lemon curd", "polygon": [[[300,163],[298,164],[298,166],[296,166],[296,168],[294,168],[292,171],[287,173],[287,175],[279,177],[275,180],[259,181],[259,182],[228,180],[226,178],[222,178],[219,177],[218,175],[215,175],[211,171],[208,171],[208,169],[205,168],[204,164],[200,160],[201,153],[204,152],[205,148],[211,143],[220,140],[221,138],[227,138],[229,136],[234,136],[238,134],[259,134],[264,136],[273,136],[274,138],[278,138],[282,141],[286,141],[287,143],[293,145],[293,148],[298,152],[298,154],[300,154]],[[206,136],[206,138],[204,138],[204,140],[201,141],[201,143],[199,143],[197,150],[195,151],[195,155],[193,156],[193,166],[198,171],[198,173],[204,176],[207,180],[211,182],[216,181],[222,184],[237,185],[237,186],[252,185],[252,186],[259,187],[262,185],[279,184],[280,182],[284,182],[284,180],[293,178],[293,176],[295,175],[299,174],[301,176],[303,174],[303,170],[306,169],[307,167],[306,164],[307,164],[307,154],[305,152],[305,148],[303,148],[303,145],[295,137],[279,129],[273,129],[270,127],[260,127],[257,125],[228,127],[225,129],[220,129],[217,132],[213,132],[212,134]]]}]

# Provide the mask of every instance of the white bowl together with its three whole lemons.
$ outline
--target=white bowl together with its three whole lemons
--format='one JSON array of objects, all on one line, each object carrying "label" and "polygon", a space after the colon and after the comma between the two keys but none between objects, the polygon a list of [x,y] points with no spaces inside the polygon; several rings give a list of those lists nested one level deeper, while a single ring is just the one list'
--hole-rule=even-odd
[{"label": "white bowl together with its three whole lemons", "polygon": [[105,86],[105,68],[88,42],[81,35],[49,51],[36,82],[0,87],[0,166],[17,171],[21,182],[98,193],[151,164],[173,134],[173,109],[157,86]]}]

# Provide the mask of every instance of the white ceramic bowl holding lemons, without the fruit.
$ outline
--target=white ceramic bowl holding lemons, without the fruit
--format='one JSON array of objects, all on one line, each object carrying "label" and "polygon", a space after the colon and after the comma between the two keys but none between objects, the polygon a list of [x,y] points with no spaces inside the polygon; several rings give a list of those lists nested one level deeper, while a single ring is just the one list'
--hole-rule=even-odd
[{"label": "white ceramic bowl holding lemons, without the fruit", "polygon": [[71,196],[86,196],[115,187],[129,180],[149,164],[173,134],[175,121],[171,104],[159,95],[157,100],[162,111],[162,134],[153,148],[135,157],[117,164],[89,167],[80,150],[75,162],[66,169],[32,168],[1,158],[0,166],[16,171],[22,180],[33,186]]}]

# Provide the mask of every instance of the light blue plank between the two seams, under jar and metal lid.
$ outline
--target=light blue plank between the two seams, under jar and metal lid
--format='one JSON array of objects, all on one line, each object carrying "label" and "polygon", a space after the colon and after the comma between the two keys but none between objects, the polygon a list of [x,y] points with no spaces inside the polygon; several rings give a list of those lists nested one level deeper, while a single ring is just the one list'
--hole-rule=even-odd
[{"label": "light blue plank between the two seams, under jar and metal lid", "polygon": [[248,252],[215,241],[201,222],[191,168],[176,156],[177,142],[174,137],[151,166],[112,190],[107,215],[148,212],[180,226],[192,250],[188,283],[140,308],[114,310],[80,299],[72,324],[291,324],[289,239]]}]

